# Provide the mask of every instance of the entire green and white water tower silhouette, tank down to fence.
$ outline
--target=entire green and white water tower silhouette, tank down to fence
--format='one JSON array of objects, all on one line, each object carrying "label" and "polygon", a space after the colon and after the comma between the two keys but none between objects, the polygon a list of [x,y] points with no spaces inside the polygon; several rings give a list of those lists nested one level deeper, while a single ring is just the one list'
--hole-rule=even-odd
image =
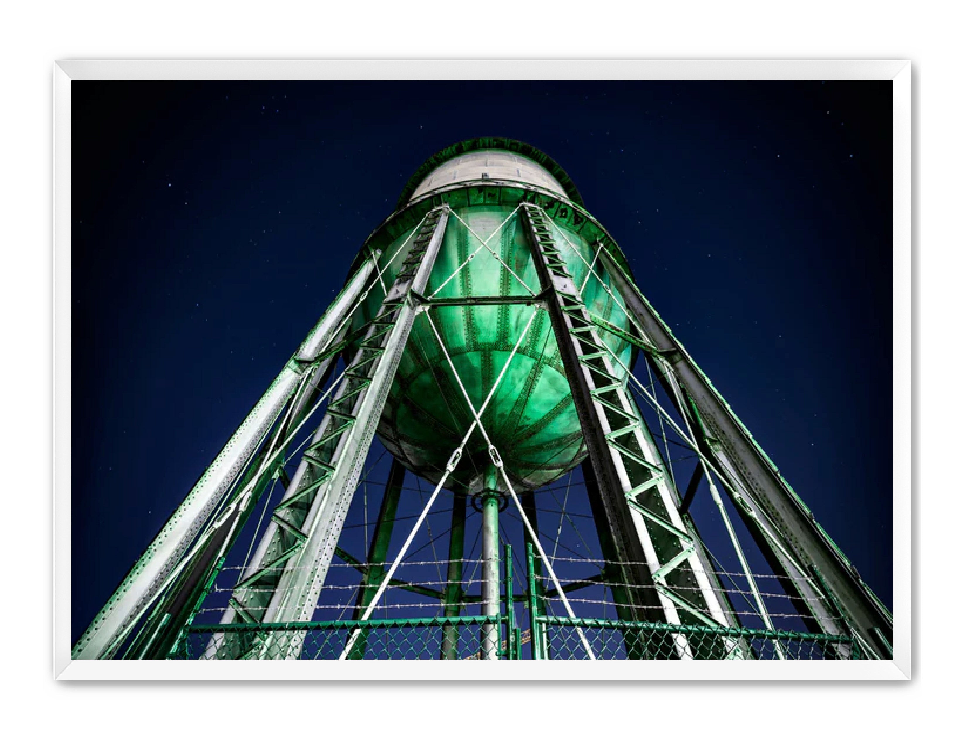
[{"label": "entire green and white water tower silhouette, tank down to fence", "polygon": [[482,138],[415,172],[73,654],[853,659],[891,640],[573,181]]}]

